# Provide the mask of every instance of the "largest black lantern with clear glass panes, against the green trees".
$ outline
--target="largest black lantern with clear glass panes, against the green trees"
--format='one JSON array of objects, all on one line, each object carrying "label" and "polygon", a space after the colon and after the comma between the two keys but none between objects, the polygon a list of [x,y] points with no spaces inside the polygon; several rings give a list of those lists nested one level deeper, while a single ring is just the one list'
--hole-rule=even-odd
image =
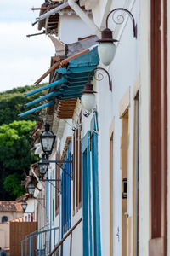
[{"label": "largest black lantern with clear glass panes, against the green trees", "polygon": [[43,152],[48,155],[52,153],[54,143],[55,143],[55,135],[53,131],[49,131],[49,125],[45,125],[45,131],[42,131],[40,135],[40,143],[42,145]]}]

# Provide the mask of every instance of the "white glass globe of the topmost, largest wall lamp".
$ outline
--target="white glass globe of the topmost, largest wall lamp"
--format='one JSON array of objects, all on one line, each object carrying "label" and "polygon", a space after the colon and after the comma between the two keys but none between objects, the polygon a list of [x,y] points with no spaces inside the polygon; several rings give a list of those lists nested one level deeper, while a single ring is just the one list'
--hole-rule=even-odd
[{"label": "white glass globe of the topmost, largest wall lamp", "polygon": [[112,42],[101,42],[98,46],[98,52],[100,61],[108,66],[116,54],[116,45]]}]

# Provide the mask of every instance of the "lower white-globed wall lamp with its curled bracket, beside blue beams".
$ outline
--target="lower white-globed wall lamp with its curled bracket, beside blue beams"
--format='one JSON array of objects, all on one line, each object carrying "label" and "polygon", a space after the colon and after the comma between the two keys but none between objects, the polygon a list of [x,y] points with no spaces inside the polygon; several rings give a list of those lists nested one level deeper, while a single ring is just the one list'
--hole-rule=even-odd
[{"label": "lower white-globed wall lamp with its curled bracket, beside blue beams", "polygon": [[[95,95],[94,94],[96,93],[96,91],[94,91],[94,84],[90,83],[90,75],[91,75],[91,73],[94,73],[97,70],[105,71],[105,73],[108,75],[108,78],[109,78],[109,90],[112,90],[111,77],[110,77],[109,73],[107,72],[107,70],[105,70],[105,68],[96,67],[92,71],[90,71],[90,73],[88,74],[88,84],[85,84],[84,90],[82,90],[82,97],[81,97],[82,107],[85,108],[86,110],[88,110],[89,112],[91,112],[91,110],[93,108],[95,108]],[[102,73],[99,73],[98,78],[96,78],[95,75],[94,75],[94,78],[96,80],[101,81],[104,78],[104,76]]]}]

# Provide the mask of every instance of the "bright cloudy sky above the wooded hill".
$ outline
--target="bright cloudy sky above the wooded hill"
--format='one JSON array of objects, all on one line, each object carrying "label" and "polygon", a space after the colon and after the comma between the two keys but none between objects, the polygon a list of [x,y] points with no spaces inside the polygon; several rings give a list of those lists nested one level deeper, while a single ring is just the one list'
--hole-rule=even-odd
[{"label": "bright cloudy sky above the wooded hill", "polygon": [[[54,45],[45,36],[27,38],[39,32],[36,20],[42,0],[5,0],[0,8],[0,91],[34,84],[50,66]],[[44,80],[48,81],[48,79]]]}]

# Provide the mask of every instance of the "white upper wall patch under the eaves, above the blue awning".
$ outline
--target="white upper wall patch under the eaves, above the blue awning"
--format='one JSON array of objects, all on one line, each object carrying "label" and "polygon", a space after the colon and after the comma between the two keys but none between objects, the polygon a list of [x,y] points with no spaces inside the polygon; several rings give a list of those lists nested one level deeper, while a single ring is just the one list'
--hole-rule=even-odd
[{"label": "white upper wall patch under the eaves, above the blue awning", "polygon": [[[88,15],[88,17],[92,15]],[[77,15],[61,15],[59,19],[59,39],[65,44],[78,41],[78,38],[88,37],[93,32]]]}]

